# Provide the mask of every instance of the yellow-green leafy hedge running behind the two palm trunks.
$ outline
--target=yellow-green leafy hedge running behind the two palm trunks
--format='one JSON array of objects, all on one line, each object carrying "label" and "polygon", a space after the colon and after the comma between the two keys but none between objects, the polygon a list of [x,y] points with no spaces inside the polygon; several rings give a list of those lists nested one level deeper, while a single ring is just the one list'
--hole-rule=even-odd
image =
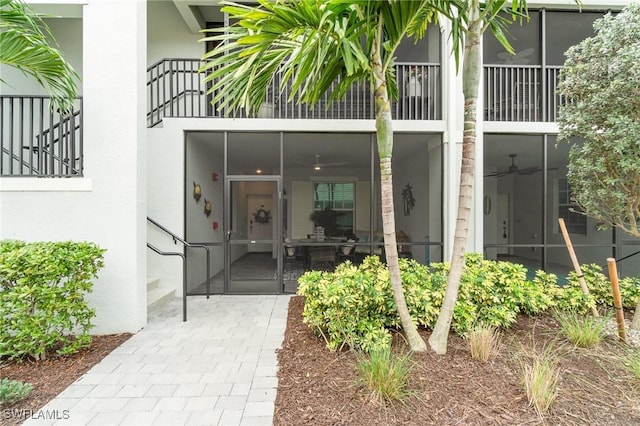
[{"label": "yellow-green leafy hedge running behind the two palm trunks", "polygon": [[[575,276],[570,275],[569,284],[560,287],[553,274],[537,271],[528,280],[522,265],[468,254],[452,329],[466,335],[477,324],[508,328],[519,313],[532,315],[552,307],[586,312],[608,300],[610,285],[594,266],[585,270],[590,296],[582,293]],[[400,273],[411,317],[432,329],[444,298],[449,264],[425,266],[400,259]],[[342,263],[334,272],[306,272],[299,284],[298,294],[305,296],[304,321],[331,350],[343,346],[379,350],[390,344],[390,331],[400,327],[389,271],[377,256],[367,257],[359,266]],[[631,281],[627,284],[622,288],[625,306],[635,306],[639,288]]]}]

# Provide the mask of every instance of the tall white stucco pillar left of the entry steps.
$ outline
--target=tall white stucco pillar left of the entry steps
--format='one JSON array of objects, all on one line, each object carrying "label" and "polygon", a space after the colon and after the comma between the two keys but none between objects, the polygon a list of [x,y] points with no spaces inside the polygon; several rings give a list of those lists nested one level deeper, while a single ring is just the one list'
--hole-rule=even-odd
[{"label": "tall white stucco pillar left of the entry steps", "polygon": [[141,0],[84,7],[85,175],[93,191],[78,214],[108,249],[94,292],[104,332],[146,324],[146,8]]}]

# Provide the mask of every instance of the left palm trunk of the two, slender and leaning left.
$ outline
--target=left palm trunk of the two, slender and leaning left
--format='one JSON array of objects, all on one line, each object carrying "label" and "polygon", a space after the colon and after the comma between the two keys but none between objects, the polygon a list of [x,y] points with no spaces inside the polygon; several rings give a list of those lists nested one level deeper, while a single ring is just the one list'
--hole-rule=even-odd
[{"label": "left palm trunk of the two, slender and leaning left", "polygon": [[[378,37],[378,41],[380,37]],[[378,47],[380,45],[378,44]],[[393,125],[391,120],[391,104],[387,94],[387,84],[379,49],[372,49],[374,103],[376,113],[376,132],[378,139],[378,156],[380,157],[380,192],[382,202],[382,230],[384,232],[384,249],[391,278],[393,299],[396,302],[400,322],[404,329],[409,347],[414,352],[424,352],[427,345],[418,333],[416,325],[411,320],[407,302],[402,289],[400,265],[398,263],[398,247],[396,245],[395,214],[393,207],[393,179],[391,172],[391,157],[393,151]]]}]

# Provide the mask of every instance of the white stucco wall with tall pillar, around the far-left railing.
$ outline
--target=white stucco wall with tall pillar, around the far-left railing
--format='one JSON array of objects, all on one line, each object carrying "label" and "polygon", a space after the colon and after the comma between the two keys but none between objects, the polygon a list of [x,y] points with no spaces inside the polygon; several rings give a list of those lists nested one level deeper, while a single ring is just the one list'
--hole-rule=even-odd
[{"label": "white stucco wall with tall pillar, around the far-left railing", "polygon": [[70,56],[83,61],[85,177],[0,179],[0,238],[107,249],[93,332],[134,332],[146,323],[146,3],[88,0],[82,40]]}]

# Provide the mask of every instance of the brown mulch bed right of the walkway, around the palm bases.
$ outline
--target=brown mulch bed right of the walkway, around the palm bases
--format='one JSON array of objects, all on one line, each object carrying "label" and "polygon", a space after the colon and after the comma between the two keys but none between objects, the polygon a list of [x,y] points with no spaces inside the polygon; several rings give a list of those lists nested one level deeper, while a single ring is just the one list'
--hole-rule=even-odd
[{"label": "brown mulch bed right of the walkway, around the palm bases", "polygon": [[[502,335],[489,362],[471,358],[466,343],[449,338],[444,356],[413,354],[413,395],[381,403],[359,383],[352,351],[330,352],[302,322],[304,299],[291,299],[278,352],[276,425],[638,425],[640,381],[622,370],[614,354],[626,348],[612,339],[591,349],[558,338],[549,316],[518,319]],[[424,339],[429,332],[421,330]],[[553,342],[553,343],[552,343]],[[540,417],[522,385],[522,361],[552,345],[561,379],[551,411]],[[406,351],[399,337],[394,348]]]}]

